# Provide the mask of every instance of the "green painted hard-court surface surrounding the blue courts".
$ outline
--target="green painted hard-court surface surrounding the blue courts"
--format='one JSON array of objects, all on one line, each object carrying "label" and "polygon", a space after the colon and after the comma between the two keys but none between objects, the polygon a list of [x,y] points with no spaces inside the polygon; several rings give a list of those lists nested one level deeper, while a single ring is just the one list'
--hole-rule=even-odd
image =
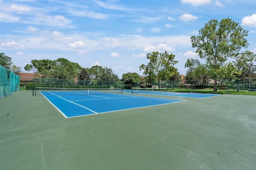
[{"label": "green painted hard-court surface surrounding the blue courts", "polygon": [[19,90],[0,100],[0,169],[255,169],[256,96],[120,95],[186,101],[67,119],[44,96]]}]

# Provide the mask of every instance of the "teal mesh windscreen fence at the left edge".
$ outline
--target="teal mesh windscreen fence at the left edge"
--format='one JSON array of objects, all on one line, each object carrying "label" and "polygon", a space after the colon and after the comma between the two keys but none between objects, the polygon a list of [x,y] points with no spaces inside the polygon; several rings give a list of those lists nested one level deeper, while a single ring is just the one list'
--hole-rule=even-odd
[{"label": "teal mesh windscreen fence at the left edge", "polygon": [[20,76],[0,65],[0,99],[20,89]]}]

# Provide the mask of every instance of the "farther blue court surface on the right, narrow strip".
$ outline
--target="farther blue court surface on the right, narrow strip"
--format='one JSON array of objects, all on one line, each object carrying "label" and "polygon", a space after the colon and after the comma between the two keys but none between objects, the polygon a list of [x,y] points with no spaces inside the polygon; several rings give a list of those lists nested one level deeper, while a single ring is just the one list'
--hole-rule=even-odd
[{"label": "farther blue court surface on the right, narrow strip", "polygon": [[[131,90],[124,90],[124,92],[131,93]],[[185,92],[160,92],[151,90],[132,90],[133,93],[141,94],[152,94],[152,95],[162,95],[162,96],[175,96],[184,98],[209,98],[214,96],[220,96],[220,94],[205,94],[205,93],[185,93]]]}]

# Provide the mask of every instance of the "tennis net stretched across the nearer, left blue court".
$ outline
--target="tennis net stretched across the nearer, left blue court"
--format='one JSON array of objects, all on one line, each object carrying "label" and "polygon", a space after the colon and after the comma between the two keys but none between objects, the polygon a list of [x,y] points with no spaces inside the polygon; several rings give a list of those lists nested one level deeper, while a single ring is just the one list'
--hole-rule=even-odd
[{"label": "tennis net stretched across the nearer, left blue court", "polygon": [[82,95],[103,95],[103,94],[122,94],[122,88],[48,88],[35,87],[34,96],[42,96],[40,92],[47,92],[44,95],[57,96],[82,96]]}]

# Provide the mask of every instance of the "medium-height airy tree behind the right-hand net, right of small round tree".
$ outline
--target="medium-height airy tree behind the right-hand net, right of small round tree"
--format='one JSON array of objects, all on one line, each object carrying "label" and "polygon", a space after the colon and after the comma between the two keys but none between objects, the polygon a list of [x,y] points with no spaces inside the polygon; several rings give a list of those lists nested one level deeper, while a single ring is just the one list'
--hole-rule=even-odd
[{"label": "medium-height airy tree behind the right-hand net, right of small round tree", "polygon": [[174,68],[174,65],[178,61],[174,60],[174,57],[175,55],[169,54],[167,51],[148,53],[148,65],[141,64],[140,70],[144,70],[143,74],[146,75],[148,82],[157,81],[161,85],[161,81],[169,80],[171,76],[177,74],[177,68]]}]

